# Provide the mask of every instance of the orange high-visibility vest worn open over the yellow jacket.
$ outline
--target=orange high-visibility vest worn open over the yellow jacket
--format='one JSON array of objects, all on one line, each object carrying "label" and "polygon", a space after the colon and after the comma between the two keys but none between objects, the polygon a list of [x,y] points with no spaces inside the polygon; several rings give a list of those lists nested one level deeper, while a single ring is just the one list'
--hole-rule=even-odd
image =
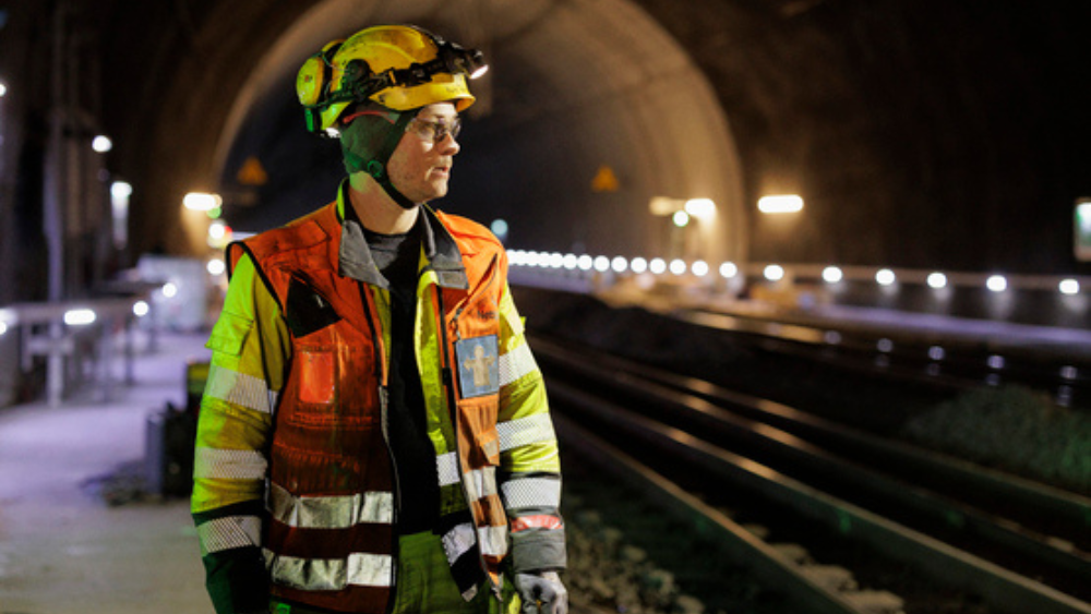
[{"label": "orange high-visibility vest worn open over the yellow jacket", "polygon": [[[477,386],[477,375],[456,374],[484,373],[497,358],[506,260],[477,224],[423,207],[421,215],[434,216],[430,221],[446,230],[435,233],[446,249],[430,264],[439,281],[424,290],[435,309],[418,317],[436,318],[442,337],[433,341],[444,398],[454,408],[458,480],[471,519],[447,527],[444,538],[489,542],[451,561],[459,589],[472,594],[485,574],[494,590],[500,586],[507,549],[495,475],[499,395],[488,382]],[[375,290],[338,270],[341,232],[331,204],[236,243],[229,254],[233,266],[248,253],[281,313],[299,323],[268,450],[272,518],[264,550],[272,592],[317,607],[380,614],[392,599],[396,543],[396,485],[383,432],[388,365]],[[325,576],[349,581],[327,585]]]}]

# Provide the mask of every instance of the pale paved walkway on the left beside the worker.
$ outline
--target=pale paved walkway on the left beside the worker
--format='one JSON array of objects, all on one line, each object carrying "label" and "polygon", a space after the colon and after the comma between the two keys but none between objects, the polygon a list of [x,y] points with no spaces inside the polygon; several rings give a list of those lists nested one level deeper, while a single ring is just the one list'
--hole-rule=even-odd
[{"label": "pale paved walkway on the left beside the worker", "polygon": [[204,340],[161,335],[108,401],[0,409],[0,614],[213,612],[189,502],[110,507],[88,486],[143,459],[148,416],[184,405]]}]

